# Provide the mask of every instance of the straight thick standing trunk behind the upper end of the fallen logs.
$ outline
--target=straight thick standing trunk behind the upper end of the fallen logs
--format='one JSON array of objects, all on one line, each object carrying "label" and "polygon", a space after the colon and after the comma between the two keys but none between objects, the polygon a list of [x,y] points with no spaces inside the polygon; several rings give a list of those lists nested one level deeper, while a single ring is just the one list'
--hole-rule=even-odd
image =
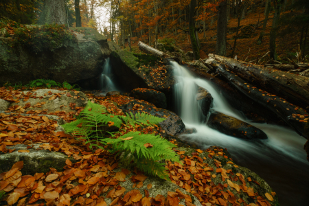
[{"label": "straight thick standing trunk behind the upper end of the fallen logs", "polygon": [[216,54],[227,56],[227,0],[218,7]]}]

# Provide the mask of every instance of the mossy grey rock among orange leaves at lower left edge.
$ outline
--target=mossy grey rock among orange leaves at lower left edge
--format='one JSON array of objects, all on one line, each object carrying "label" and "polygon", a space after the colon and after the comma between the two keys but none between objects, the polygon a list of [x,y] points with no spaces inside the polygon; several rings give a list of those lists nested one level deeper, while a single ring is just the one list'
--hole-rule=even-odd
[{"label": "mossy grey rock among orange leaves at lower left edge", "polygon": [[[14,150],[11,153],[0,155],[0,173],[9,171],[12,165],[17,161],[23,161],[23,175],[34,175],[36,172],[49,172],[49,168],[56,168],[57,171],[63,171],[65,161],[69,159],[72,163],[76,163],[75,159],[68,158],[67,155],[61,152],[51,152],[40,148],[40,144],[34,144],[33,148],[28,148],[28,145],[19,144],[16,146],[8,146],[6,148]],[[41,150],[38,150],[41,149]],[[18,152],[19,150],[29,150],[30,152]]]}]

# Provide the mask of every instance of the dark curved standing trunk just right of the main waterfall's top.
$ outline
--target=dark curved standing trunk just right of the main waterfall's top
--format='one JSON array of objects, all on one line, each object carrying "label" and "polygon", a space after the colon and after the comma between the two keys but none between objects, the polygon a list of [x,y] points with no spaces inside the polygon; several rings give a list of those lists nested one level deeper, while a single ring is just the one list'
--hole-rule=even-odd
[{"label": "dark curved standing trunk just right of the main waterfall's top", "polygon": [[189,16],[189,32],[190,32],[190,39],[191,45],[194,54],[194,60],[200,59],[200,49],[198,49],[198,43],[195,36],[195,29],[194,29],[194,16],[195,16],[195,7],[196,7],[196,0],[191,0],[190,3],[190,16]]}]

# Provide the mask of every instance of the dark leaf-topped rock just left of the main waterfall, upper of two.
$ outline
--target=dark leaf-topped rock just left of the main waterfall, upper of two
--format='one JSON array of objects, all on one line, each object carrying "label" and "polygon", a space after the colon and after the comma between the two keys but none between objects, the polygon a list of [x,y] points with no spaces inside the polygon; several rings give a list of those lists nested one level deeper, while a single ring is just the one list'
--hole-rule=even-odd
[{"label": "dark leaf-topped rock just left of the main waterfall, upper of two", "polygon": [[137,88],[131,91],[130,96],[137,100],[144,100],[155,104],[158,108],[166,108],[167,102],[164,93],[154,89]]}]

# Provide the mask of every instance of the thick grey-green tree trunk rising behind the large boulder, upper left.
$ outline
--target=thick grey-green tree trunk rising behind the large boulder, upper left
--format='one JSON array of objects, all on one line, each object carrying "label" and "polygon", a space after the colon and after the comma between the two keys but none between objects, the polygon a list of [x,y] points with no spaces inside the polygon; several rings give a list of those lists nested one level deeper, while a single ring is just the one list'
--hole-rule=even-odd
[{"label": "thick grey-green tree trunk rising behind the large boulder, upper left", "polygon": [[67,23],[67,13],[65,12],[66,0],[46,0],[43,10],[38,19],[38,24],[65,24]]}]

